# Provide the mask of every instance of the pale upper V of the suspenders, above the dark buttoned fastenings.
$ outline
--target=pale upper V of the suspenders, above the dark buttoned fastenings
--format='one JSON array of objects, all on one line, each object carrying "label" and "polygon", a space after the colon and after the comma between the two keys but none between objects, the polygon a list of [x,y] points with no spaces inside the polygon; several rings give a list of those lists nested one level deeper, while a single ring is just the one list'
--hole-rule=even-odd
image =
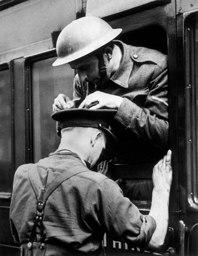
[{"label": "pale upper V of the suspenders, above the dark buttoned fastenings", "polygon": [[34,190],[34,193],[36,195],[37,201],[40,198],[40,193],[42,190],[45,191],[45,197],[44,197],[44,204],[50,194],[65,180],[71,178],[72,176],[79,174],[81,172],[89,172],[90,170],[76,170],[76,166],[73,168],[70,168],[69,170],[62,172],[58,177],[56,177],[52,182],[46,187],[43,187],[43,184],[41,182],[40,176],[38,174],[38,167],[37,164],[32,164],[29,169],[29,178],[30,183],[32,185],[32,188]]}]

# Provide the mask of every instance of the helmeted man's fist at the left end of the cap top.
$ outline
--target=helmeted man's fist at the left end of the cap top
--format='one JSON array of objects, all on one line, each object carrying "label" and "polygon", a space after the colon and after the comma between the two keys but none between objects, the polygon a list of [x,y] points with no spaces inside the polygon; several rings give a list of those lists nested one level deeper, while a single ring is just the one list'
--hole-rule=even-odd
[{"label": "helmeted man's fist at the left end of the cap top", "polygon": [[52,106],[53,112],[62,110],[62,109],[67,109],[67,108],[73,108],[74,107],[74,102],[70,100],[68,96],[65,94],[58,94],[58,97],[55,98],[54,104]]}]

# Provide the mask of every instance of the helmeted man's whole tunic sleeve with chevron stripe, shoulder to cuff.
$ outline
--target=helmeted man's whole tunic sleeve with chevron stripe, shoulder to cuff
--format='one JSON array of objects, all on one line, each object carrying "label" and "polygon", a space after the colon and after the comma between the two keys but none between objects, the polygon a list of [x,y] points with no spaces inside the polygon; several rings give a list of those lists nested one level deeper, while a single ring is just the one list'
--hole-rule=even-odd
[{"label": "helmeted man's whole tunic sleeve with chevron stripe, shoulder to cuff", "polygon": [[124,98],[115,119],[144,140],[168,146],[168,84],[166,56],[156,65],[149,93],[142,107]]}]

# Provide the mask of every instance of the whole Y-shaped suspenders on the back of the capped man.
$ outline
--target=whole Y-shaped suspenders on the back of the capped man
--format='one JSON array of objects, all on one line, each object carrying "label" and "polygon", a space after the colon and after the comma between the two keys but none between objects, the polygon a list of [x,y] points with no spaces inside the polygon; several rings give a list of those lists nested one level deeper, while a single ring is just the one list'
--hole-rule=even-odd
[{"label": "whole Y-shaped suspenders on the back of the capped man", "polygon": [[[74,170],[73,170],[74,169]],[[38,174],[38,167],[37,164],[32,164],[29,169],[29,178],[30,183],[32,185],[32,188],[34,190],[34,193],[36,195],[37,200],[37,212],[36,217],[34,221],[34,226],[32,228],[32,233],[30,235],[30,241],[28,243],[28,248],[32,248],[32,244],[34,242],[34,238],[36,238],[36,227],[38,225],[38,222],[40,222],[40,235],[41,235],[41,247],[45,247],[44,243],[44,226],[43,226],[43,211],[46,204],[46,200],[52,194],[52,192],[65,180],[71,178],[72,176],[79,174],[81,172],[88,172],[89,170],[76,170],[76,166],[73,168],[70,168],[69,170],[66,170],[62,172],[59,176],[57,176],[52,182],[46,187],[43,187],[42,181],[40,179],[40,176]]]}]

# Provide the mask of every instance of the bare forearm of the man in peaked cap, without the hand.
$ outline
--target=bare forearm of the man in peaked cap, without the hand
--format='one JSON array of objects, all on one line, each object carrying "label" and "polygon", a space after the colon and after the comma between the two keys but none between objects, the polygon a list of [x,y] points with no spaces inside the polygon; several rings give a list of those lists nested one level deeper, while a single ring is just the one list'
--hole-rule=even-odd
[{"label": "bare forearm of the man in peaked cap, without the hand", "polygon": [[152,205],[149,215],[156,221],[156,230],[147,246],[148,250],[159,250],[164,244],[168,228],[168,205],[169,205],[168,189],[153,189]]}]

